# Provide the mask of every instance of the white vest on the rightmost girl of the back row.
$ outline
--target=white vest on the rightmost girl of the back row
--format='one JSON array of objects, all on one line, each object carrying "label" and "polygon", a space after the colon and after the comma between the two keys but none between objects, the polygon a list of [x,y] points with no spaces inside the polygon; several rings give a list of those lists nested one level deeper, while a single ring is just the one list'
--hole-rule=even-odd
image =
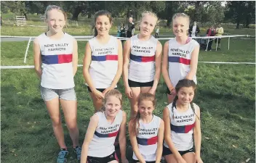
[{"label": "white vest on the rightmost girl of the back row", "polygon": [[[175,87],[179,80],[185,78],[191,70],[191,53],[193,49],[199,46],[199,43],[193,39],[185,45],[177,43],[176,38],[169,40],[168,62],[169,62],[169,78]],[[196,75],[193,77],[196,81]]]}]

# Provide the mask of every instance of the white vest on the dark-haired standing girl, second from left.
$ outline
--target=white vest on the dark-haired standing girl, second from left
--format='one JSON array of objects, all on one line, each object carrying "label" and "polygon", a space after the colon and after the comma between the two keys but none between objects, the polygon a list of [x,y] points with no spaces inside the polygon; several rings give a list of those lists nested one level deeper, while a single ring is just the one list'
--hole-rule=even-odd
[{"label": "white vest on the dark-haired standing girl, second from left", "polygon": [[97,38],[89,40],[92,49],[92,62],[89,66],[89,75],[95,88],[108,88],[116,76],[118,68],[118,42],[111,35],[106,44],[101,44]]}]

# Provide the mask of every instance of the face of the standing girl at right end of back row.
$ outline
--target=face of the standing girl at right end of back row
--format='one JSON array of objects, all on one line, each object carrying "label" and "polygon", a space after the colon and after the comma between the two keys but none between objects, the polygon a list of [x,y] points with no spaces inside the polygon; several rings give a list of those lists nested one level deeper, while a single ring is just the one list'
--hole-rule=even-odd
[{"label": "face of the standing girl at right end of back row", "polygon": [[172,22],[172,30],[177,37],[187,35],[188,28],[188,18],[176,17]]}]

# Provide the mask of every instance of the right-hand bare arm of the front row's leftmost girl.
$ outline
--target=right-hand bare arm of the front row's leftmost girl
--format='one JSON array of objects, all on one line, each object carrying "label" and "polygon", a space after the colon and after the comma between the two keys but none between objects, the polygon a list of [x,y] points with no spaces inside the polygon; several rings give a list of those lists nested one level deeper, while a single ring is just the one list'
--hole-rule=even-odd
[{"label": "right-hand bare arm of the front row's leftmost girl", "polygon": [[127,137],[126,137],[126,127],[127,127],[127,114],[123,112],[123,121],[120,125],[119,131],[119,145],[120,145],[120,152],[121,152],[121,162],[126,162],[126,149],[127,149]]}]

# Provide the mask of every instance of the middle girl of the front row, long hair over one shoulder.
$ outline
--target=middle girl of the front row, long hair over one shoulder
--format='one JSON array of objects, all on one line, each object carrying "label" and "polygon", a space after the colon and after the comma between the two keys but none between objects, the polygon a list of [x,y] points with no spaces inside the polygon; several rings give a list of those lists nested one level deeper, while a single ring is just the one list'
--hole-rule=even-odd
[{"label": "middle girl of the front row, long hair over one shoulder", "polygon": [[159,163],[163,151],[164,121],[153,114],[156,99],[151,93],[141,93],[138,112],[129,121],[129,138],[134,162]]}]

